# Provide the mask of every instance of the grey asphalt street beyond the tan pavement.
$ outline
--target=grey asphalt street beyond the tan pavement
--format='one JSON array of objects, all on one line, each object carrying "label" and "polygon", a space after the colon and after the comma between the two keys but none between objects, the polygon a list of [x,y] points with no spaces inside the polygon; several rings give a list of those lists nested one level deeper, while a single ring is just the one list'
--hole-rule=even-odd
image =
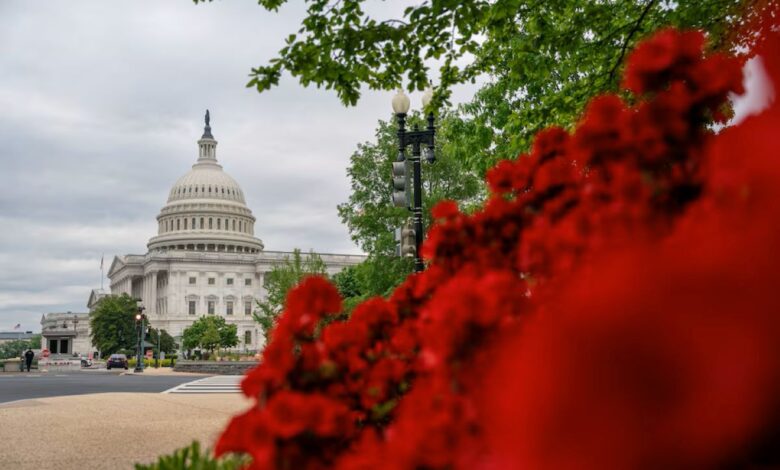
[{"label": "grey asphalt street beyond the tan pavement", "polygon": [[202,375],[122,374],[124,371],[0,374],[0,403],[85,393],[159,393]]}]

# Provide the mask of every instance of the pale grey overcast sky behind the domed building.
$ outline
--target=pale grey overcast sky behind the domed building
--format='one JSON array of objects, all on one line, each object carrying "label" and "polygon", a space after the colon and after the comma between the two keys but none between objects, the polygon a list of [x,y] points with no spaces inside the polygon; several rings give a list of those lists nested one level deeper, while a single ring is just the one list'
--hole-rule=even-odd
[{"label": "pale grey overcast sky behind the domed building", "polygon": [[289,77],[262,95],[244,86],[298,29],[302,4],[272,14],[251,0],[0,1],[0,331],[86,311],[101,256],[107,271],[115,255],[146,252],[197,158],[206,108],[266,249],[359,253],[336,205],[392,93],[345,108]]}]

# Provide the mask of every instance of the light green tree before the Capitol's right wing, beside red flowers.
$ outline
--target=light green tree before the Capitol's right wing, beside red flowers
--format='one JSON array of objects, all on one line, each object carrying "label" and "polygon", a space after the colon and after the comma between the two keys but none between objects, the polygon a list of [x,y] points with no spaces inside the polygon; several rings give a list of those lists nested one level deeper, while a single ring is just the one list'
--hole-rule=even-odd
[{"label": "light green tree before the Capitol's right wing, beside red flowers", "polygon": [[258,310],[254,312],[255,320],[260,324],[263,335],[267,339],[273,329],[276,317],[284,308],[287,292],[309,275],[326,274],[325,262],[313,251],[306,256],[301,250],[293,250],[292,256],[275,265],[265,274],[264,287],[266,296],[257,302]]}]

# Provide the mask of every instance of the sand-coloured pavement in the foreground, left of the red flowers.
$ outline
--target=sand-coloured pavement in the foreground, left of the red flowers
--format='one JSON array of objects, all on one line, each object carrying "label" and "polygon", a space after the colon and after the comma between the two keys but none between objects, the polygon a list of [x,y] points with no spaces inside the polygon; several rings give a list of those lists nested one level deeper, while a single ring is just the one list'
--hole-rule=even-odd
[{"label": "sand-coloured pavement in the foreground, left of the red flowers", "polygon": [[243,395],[100,393],[0,404],[2,469],[132,469],[213,442]]}]

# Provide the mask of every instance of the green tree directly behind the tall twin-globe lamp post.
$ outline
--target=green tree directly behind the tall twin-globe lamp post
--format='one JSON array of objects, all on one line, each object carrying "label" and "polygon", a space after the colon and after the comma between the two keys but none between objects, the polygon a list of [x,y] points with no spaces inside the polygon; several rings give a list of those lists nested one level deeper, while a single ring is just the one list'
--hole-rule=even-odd
[{"label": "green tree directly behind the tall twin-globe lamp post", "polygon": [[[475,205],[484,194],[484,185],[452,151],[454,116],[445,114],[437,123],[436,162],[423,164],[423,224],[430,227],[430,208],[442,199]],[[411,116],[410,126],[421,124]],[[338,206],[341,221],[347,225],[352,240],[368,253],[366,261],[334,276],[334,282],[345,298],[345,310],[360,300],[386,295],[412,272],[411,260],[395,255],[395,229],[411,216],[406,208],[393,206],[392,162],[398,152],[397,124],[379,121],[374,142],[358,144],[350,159],[347,174],[352,192],[349,200]],[[411,181],[409,182],[411,184]]]}]

